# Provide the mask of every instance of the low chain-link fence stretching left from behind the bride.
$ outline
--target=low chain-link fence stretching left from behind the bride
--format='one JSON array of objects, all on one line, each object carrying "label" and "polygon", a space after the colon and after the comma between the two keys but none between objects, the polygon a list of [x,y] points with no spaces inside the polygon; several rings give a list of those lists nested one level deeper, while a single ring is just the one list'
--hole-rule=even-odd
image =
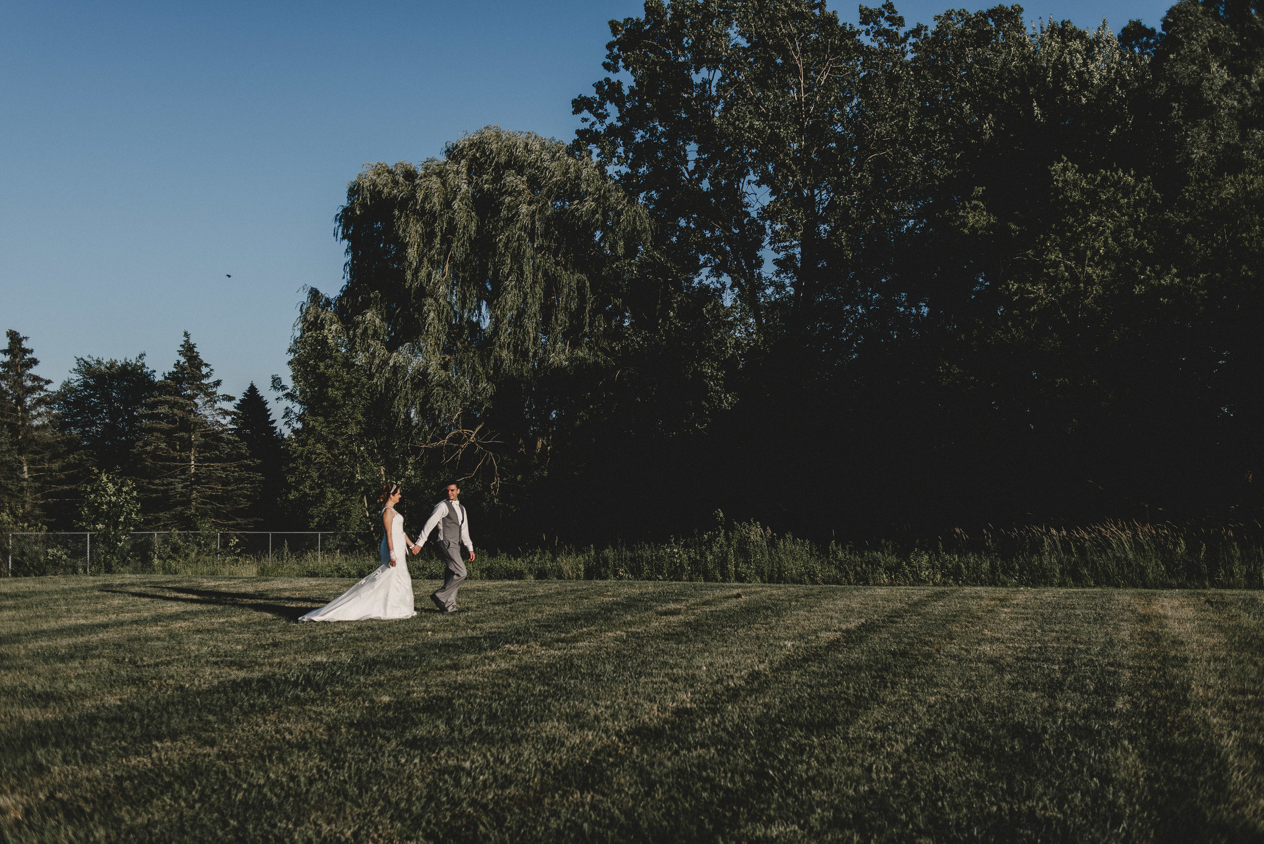
[{"label": "low chain-link fence stretching left from behind the bride", "polygon": [[13,532],[5,534],[3,574],[9,577],[111,572],[163,572],[190,560],[316,565],[334,558],[378,556],[372,531],[134,531]]}]

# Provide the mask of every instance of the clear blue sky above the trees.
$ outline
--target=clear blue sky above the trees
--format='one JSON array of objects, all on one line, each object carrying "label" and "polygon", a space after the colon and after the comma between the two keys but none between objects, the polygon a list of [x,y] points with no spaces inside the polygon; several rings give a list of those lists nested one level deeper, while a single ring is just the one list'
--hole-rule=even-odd
[{"label": "clear blue sky above the trees", "polygon": [[[856,21],[856,6],[830,4]],[[873,0],[877,5],[877,0]],[[966,4],[980,9],[994,4]],[[1152,0],[1036,0],[1030,20]],[[947,3],[896,3],[932,23]],[[421,162],[488,124],[569,140],[607,20],[637,0],[0,4],[0,330],[61,383],[76,356],[190,331],[239,394],[273,373],[300,288],[335,293],[334,215],[368,162]],[[228,278],[231,275],[231,278]]]}]

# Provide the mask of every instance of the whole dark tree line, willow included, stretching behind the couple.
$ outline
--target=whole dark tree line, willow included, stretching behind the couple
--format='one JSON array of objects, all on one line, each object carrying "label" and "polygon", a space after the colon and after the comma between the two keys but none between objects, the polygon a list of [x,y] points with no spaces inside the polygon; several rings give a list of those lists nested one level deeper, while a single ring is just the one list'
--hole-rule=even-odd
[{"label": "whole dark tree line, willow included, stretching behind the couple", "polygon": [[[650,0],[611,32],[569,143],[489,126],[349,184],[284,437],[177,364],[83,465],[163,524],[363,529],[382,478],[459,478],[507,547],[1259,517],[1258,3],[1114,34]],[[187,414],[233,507],[179,485]]]}]

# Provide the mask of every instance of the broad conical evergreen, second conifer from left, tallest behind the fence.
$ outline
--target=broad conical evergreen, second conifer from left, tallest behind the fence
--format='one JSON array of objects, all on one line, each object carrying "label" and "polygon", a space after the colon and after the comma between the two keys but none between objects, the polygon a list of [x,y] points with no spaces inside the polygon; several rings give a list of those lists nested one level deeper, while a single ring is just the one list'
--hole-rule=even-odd
[{"label": "broad conical evergreen, second conifer from left, tallest behind the fence", "polygon": [[185,332],[179,358],[143,413],[139,459],[148,521],[157,528],[209,529],[249,521],[257,464],[229,426],[231,395]]}]

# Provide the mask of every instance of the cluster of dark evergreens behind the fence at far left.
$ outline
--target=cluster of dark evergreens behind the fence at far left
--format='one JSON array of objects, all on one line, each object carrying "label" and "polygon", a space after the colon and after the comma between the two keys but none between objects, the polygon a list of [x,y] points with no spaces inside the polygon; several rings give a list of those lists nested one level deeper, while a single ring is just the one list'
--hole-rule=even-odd
[{"label": "cluster of dark evergreens behind the fence at far left", "polygon": [[[161,378],[77,358],[59,388],[28,337],[0,350],[0,529],[201,531],[279,515],[283,438],[252,383],[234,398],[188,332]],[[279,527],[279,526],[278,526]]]}]

